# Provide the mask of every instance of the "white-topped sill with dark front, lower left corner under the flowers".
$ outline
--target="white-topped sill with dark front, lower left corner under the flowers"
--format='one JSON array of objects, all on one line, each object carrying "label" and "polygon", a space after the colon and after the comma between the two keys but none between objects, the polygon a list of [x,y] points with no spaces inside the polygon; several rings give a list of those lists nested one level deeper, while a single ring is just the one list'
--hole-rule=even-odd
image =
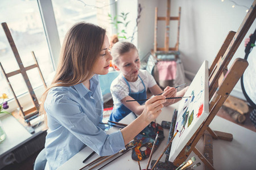
[{"label": "white-topped sill with dark front, lower left corner under the flowers", "polygon": [[1,117],[6,139],[0,143],[0,169],[14,162],[22,162],[44,147],[46,131],[37,126],[31,134],[15,117],[6,114]]}]

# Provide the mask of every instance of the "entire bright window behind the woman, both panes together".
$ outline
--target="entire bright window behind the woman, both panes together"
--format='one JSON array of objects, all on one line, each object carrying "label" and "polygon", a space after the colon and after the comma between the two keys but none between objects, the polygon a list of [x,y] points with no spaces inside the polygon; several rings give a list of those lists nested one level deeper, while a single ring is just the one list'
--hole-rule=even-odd
[{"label": "entire bright window behind the woman, both panes together", "polygon": [[[114,9],[114,0],[52,0],[46,2],[52,2],[60,44],[63,42],[65,33],[76,22],[86,21],[98,24],[106,28],[108,35],[112,33],[112,25],[110,24],[108,14]],[[10,29],[24,67],[35,64],[31,54],[33,51],[44,79],[47,80],[48,76],[54,71],[54,67],[42,22],[44,16],[40,15],[38,1],[1,0],[0,14],[1,23],[6,22]],[[56,29],[51,26],[51,30]],[[52,48],[55,47],[51,46]],[[6,73],[19,70],[18,63],[2,27],[0,28],[0,62]],[[39,100],[44,90],[38,70],[35,68],[26,73]],[[17,74],[9,77],[9,80],[15,95],[18,96],[20,104],[22,106],[32,104],[30,97],[28,97],[28,90],[23,76]],[[0,84],[0,94],[6,93],[11,100],[9,101],[11,102],[9,104],[9,111],[18,108],[18,105],[13,100],[13,92],[7,84],[2,71],[0,71]],[[42,90],[36,92],[36,88]],[[21,95],[25,96],[22,100],[20,100]]]}]

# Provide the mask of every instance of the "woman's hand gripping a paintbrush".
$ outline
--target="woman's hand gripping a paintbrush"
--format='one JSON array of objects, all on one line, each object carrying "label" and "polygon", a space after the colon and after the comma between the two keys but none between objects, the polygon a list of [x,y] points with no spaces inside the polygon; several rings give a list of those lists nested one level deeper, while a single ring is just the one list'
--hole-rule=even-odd
[{"label": "woman's hand gripping a paintbrush", "polygon": [[144,119],[150,124],[162,112],[164,103],[166,103],[166,96],[159,95],[148,99],[141,116],[144,116]]}]

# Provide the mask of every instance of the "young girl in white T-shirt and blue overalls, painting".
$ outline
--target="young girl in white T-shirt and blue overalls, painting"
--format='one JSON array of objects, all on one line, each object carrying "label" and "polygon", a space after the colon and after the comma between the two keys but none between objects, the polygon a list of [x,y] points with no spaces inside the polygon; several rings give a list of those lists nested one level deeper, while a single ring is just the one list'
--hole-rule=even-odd
[{"label": "young girl in white T-shirt and blue overalls, painting", "polygon": [[[110,86],[110,92],[114,101],[114,108],[110,114],[110,121],[118,122],[130,112],[142,114],[144,101],[130,101],[147,99],[147,88],[154,95],[162,94],[163,91],[156,84],[154,77],[146,70],[139,70],[141,61],[135,45],[127,41],[119,41],[113,45],[111,50],[113,66],[121,74],[115,78]],[[187,87],[188,88],[188,87]],[[183,96],[187,88],[177,93],[176,88],[166,87],[162,95],[166,97]],[[176,94],[177,93],[177,94]],[[170,105],[180,99],[168,99],[164,106]]]}]

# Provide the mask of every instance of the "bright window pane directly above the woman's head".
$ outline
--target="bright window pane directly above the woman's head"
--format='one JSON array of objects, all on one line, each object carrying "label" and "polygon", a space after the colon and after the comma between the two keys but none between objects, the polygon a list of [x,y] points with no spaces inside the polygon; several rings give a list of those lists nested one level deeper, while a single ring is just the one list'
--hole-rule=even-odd
[{"label": "bright window pane directly above the woman's head", "polygon": [[108,13],[114,2],[109,0],[52,0],[53,11],[57,23],[57,29],[62,44],[65,33],[77,22],[88,22],[104,27],[111,33]]}]

